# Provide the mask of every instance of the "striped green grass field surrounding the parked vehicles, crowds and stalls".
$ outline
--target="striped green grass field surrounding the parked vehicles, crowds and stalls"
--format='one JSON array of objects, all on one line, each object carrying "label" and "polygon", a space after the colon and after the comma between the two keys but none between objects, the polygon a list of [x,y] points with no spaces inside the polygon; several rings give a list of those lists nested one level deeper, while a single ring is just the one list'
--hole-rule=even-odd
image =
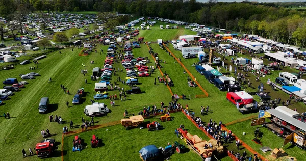
[{"label": "striped green grass field surrounding the parked vehicles, crowds and stalls", "polygon": [[[138,37],[145,37],[145,41],[155,42],[157,39],[163,40],[172,40],[177,39],[179,35],[184,34],[196,34],[190,30],[186,30],[183,27],[179,29],[159,29],[159,25],[164,25],[165,23],[157,22],[157,24],[152,27],[152,30],[142,30]],[[172,25],[170,25],[172,26]],[[210,118],[213,121],[219,122],[222,120],[223,124],[235,121],[238,119],[246,118],[249,116],[256,116],[258,114],[241,114],[235,107],[225,99],[226,92],[220,92],[213,84],[209,84],[205,77],[200,75],[192,66],[193,63],[197,62],[198,59],[184,59],[181,56],[180,51],[173,49],[169,45],[170,50],[174,53],[177,58],[181,58],[182,63],[185,67],[192,73],[192,75],[197,78],[197,81],[201,86],[209,93],[208,98],[195,98],[195,95],[202,95],[203,92],[198,87],[188,87],[187,84],[187,73],[183,74],[183,68],[176,63],[173,57],[169,56],[165,50],[162,50],[158,44],[151,44],[151,47],[154,52],[159,54],[159,58],[166,63],[162,63],[163,68],[161,70],[165,73],[168,73],[171,79],[173,80],[174,86],[171,87],[173,93],[178,95],[185,94],[187,95],[188,100],[180,100],[179,103],[182,103],[183,106],[186,104],[189,105],[189,109],[195,112],[195,115],[201,117],[203,121],[208,122]],[[100,51],[102,48],[104,51],[107,50],[107,46],[98,46],[96,49]],[[24,148],[26,151],[31,147],[34,149],[36,143],[40,142],[43,138],[40,136],[40,130],[49,129],[50,133],[53,133],[57,144],[57,151],[53,158],[48,158],[47,160],[60,160],[61,159],[61,140],[62,140],[62,128],[63,126],[69,126],[68,122],[72,120],[74,125],[77,125],[77,128],[72,130],[79,130],[81,125],[81,118],[85,117],[83,109],[85,105],[90,104],[90,99],[93,99],[94,92],[94,83],[96,81],[90,80],[90,75],[92,68],[102,67],[104,64],[104,59],[106,55],[100,53],[90,53],[88,56],[78,56],[78,53],[81,49],[73,48],[73,51],[70,48],[62,49],[60,54],[58,51],[50,53],[47,55],[47,58],[39,60],[39,69],[35,71],[29,70],[29,66],[34,66],[33,63],[27,64],[24,66],[16,65],[15,69],[11,70],[2,70],[0,71],[0,79],[4,81],[6,78],[18,78],[19,74],[25,74],[29,72],[38,72],[41,76],[36,79],[28,81],[29,84],[26,85],[24,89],[21,89],[18,92],[15,92],[14,95],[10,96],[9,100],[4,101],[4,104],[0,106],[0,113],[9,112],[12,119],[4,119],[1,117],[0,126],[2,130],[0,131],[0,147],[3,148],[3,155],[0,156],[1,160],[11,160],[16,158],[21,158],[21,150]],[[148,49],[146,45],[141,44],[141,48],[133,50],[134,57],[148,57],[151,63],[148,63],[148,66],[154,66],[154,60],[148,54]],[[20,59],[26,59],[27,57],[22,56]],[[229,58],[227,58],[229,59]],[[94,61],[94,64],[90,64],[90,61]],[[86,67],[82,67],[81,64],[84,63]],[[121,64],[115,63],[114,67],[116,70],[120,69],[120,72],[116,72],[116,76],[112,76],[111,82],[117,82],[117,78],[120,76],[121,79],[125,79],[126,73],[121,69],[123,68]],[[87,69],[88,74],[85,76],[81,74],[81,69]],[[287,68],[286,68],[287,70]],[[290,69],[291,70],[291,69]],[[289,71],[289,69],[288,69]],[[225,73],[224,69],[221,69],[222,73]],[[227,71],[228,72],[228,71]],[[276,71],[273,71],[272,75],[268,77],[274,78],[277,75]],[[171,101],[171,94],[168,88],[163,83],[157,83],[154,85],[154,78],[161,76],[158,70],[151,75],[151,77],[141,77],[139,82],[141,85],[139,87],[145,93],[129,95],[126,101],[115,100],[115,107],[110,106],[110,100],[99,100],[98,102],[104,102],[111,110],[111,113],[107,114],[104,117],[94,118],[95,124],[105,124],[108,122],[118,121],[123,118],[123,112],[125,109],[129,114],[135,113],[136,115],[144,106],[156,104],[160,108],[160,103],[164,102],[168,104]],[[230,74],[233,76],[233,73]],[[52,77],[52,82],[48,83],[49,77]],[[189,76],[190,77],[190,76]],[[267,78],[268,78],[267,77]],[[267,79],[265,78],[265,79]],[[85,79],[88,80],[88,83],[85,84]],[[263,79],[263,81],[265,81]],[[274,78],[275,79],[275,78]],[[263,82],[264,83],[264,82]],[[64,93],[60,88],[60,84],[63,84],[69,91],[70,95]],[[118,86],[123,87],[124,89],[129,89],[129,86],[123,85],[121,82],[118,82]],[[74,93],[79,88],[84,88],[86,96],[82,98],[81,104],[72,105],[72,98]],[[268,86],[266,88],[269,88]],[[109,91],[110,95],[117,94],[119,91]],[[278,94],[282,95],[282,99],[288,95],[284,94],[282,91],[276,91],[272,95]],[[48,114],[39,114],[38,113],[38,103],[41,97],[49,97],[50,103],[52,104],[52,110]],[[190,99],[189,99],[190,98]],[[69,108],[66,106],[66,102],[69,102]],[[293,104],[294,105],[294,104]],[[210,106],[210,111],[204,116],[200,116],[201,106]],[[298,105],[296,105],[298,106]],[[304,105],[299,105],[302,111]],[[290,107],[290,106],[289,106]],[[49,122],[49,115],[60,115],[65,123],[63,125],[57,124],[55,122]],[[175,128],[180,124],[184,124],[189,130],[190,133],[199,135],[203,139],[207,137],[198,130],[182,113],[171,114],[174,116],[174,120],[170,122],[164,122],[162,125],[165,129],[155,132],[148,132],[147,129],[131,129],[125,130],[121,125],[115,125],[111,127],[101,128],[93,131],[88,131],[81,133],[80,136],[85,140],[85,143],[88,144],[88,149],[83,150],[82,152],[72,152],[72,137],[64,138],[64,159],[65,160],[84,160],[92,159],[95,160],[97,157],[105,160],[139,160],[138,151],[145,145],[155,144],[157,147],[165,146],[168,142],[173,142],[177,140],[176,136],[173,134]],[[89,120],[89,117],[85,117]],[[148,119],[146,121],[155,121],[157,118]],[[248,143],[254,150],[260,151],[258,145],[253,145],[249,140],[251,134],[253,133],[253,127],[249,126],[249,122],[245,121],[242,123],[237,123],[231,126],[228,126],[229,129],[233,130],[234,133],[241,137],[243,141]],[[108,131],[106,131],[108,129]],[[264,130],[264,128],[262,128]],[[242,132],[246,132],[246,136],[241,136]],[[92,134],[95,133],[97,137],[103,139],[105,144],[103,147],[97,149],[91,149],[89,146],[89,141]],[[249,134],[250,133],[250,134]],[[270,139],[272,133],[265,131],[265,136]],[[264,136],[264,137],[265,137]],[[248,137],[248,138],[247,138]],[[182,141],[180,141],[183,143]],[[269,143],[268,141],[265,141]],[[264,143],[265,143],[264,142]],[[277,138],[275,142],[267,144],[272,149],[279,147],[283,142],[282,139]],[[266,143],[265,143],[266,144]],[[288,144],[290,146],[290,144]],[[235,150],[235,143],[228,144],[228,149]],[[101,152],[100,152],[101,151]],[[125,151],[122,155],[120,152]],[[305,152],[296,147],[293,150],[286,150],[290,156],[296,156],[297,158],[303,158]],[[249,152],[248,152],[249,154]],[[268,154],[264,154],[268,155]],[[171,158],[173,160],[198,160],[199,157],[192,150],[185,154],[174,154]],[[27,157],[25,160],[36,160],[36,156]],[[222,158],[222,160],[230,160],[228,157]]]}]

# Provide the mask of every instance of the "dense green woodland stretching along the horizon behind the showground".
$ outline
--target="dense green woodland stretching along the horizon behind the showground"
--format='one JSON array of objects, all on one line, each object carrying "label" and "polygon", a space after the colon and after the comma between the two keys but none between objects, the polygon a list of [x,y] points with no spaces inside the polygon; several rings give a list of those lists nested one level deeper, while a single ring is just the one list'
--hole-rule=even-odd
[{"label": "dense green woodland stretching along the horizon behind the showground", "polygon": [[[211,1],[214,2],[214,1]],[[199,3],[195,0],[0,0],[0,16],[22,21],[25,13],[97,11],[161,17],[256,34],[275,41],[304,46],[304,2]],[[21,23],[20,23],[21,24]]]}]

